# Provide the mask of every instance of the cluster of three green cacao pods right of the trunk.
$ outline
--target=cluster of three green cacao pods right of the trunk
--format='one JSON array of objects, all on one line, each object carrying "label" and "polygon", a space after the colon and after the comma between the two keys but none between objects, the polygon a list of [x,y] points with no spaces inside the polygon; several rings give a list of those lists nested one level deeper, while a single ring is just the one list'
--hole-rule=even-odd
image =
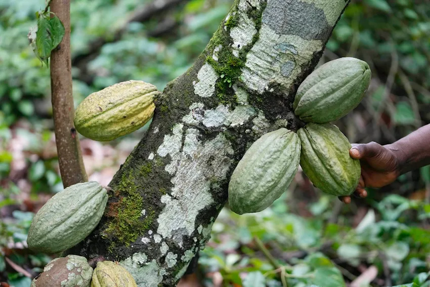
[{"label": "cluster of three green cacao pods right of the trunk", "polygon": [[330,124],[358,106],[370,84],[369,65],[340,58],[321,65],[299,86],[294,113],[306,125],[297,134],[279,129],[256,140],[239,161],[229,183],[229,206],[238,214],[269,207],[288,188],[298,169],[323,192],[345,196],[360,179],[351,144]]}]

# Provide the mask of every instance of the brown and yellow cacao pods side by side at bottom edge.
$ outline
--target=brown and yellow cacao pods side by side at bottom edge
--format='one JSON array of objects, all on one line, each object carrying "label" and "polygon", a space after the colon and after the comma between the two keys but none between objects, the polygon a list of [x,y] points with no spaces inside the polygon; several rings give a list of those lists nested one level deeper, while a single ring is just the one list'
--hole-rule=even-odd
[{"label": "brown and yellow cacao pods side by side at bottom edge", "polygon": [[137,287],[125,268],[112,261],[101,261],[93,268],[85,257],[68,255],[49,262],[30,287]]}]

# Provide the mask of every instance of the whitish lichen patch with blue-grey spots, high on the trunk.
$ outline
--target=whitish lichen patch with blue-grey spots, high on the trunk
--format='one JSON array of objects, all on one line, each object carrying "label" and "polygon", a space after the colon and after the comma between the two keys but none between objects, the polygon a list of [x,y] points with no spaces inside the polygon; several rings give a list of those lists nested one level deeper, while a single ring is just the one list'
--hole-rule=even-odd
[{"label": "whitish lichen patch with blue-grey spots, high on the trunk", "polygon": [[259,40],[246,57],[242,80],[251,90],[263,93],[269,84],[288,91],[315,52],[323,47],[321,40],[307,40],[297,35],[280,35],[263,23]]}]

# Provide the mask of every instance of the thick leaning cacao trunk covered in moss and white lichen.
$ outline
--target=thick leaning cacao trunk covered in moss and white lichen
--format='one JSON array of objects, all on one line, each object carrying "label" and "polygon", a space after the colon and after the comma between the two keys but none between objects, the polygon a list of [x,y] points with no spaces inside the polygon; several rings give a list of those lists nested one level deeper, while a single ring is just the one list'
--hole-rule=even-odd
[{"label": "thick leaning cacao trunk covered in moss and white lichen", "polygon": [[140,287],[173,286],[204,248],[228,182],[263,134],[303,125],[292,102],[347,3],[236,0],[210,43],[156,103],[113,178],[96,230],[69,251],[117,260]]}]

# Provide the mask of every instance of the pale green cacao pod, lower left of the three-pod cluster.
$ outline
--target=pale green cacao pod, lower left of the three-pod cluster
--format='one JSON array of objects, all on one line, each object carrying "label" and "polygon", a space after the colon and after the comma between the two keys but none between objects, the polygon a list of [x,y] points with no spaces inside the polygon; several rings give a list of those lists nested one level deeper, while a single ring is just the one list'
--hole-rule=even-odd
[{"label": "pale green cacao pod, lower left of the three-pod cluster", "polygon": [[269,207],[287,190],[299,160],[300,140],[287,129],[267,133],[256,140],[230,178],[230,209],[244,214]]}]

